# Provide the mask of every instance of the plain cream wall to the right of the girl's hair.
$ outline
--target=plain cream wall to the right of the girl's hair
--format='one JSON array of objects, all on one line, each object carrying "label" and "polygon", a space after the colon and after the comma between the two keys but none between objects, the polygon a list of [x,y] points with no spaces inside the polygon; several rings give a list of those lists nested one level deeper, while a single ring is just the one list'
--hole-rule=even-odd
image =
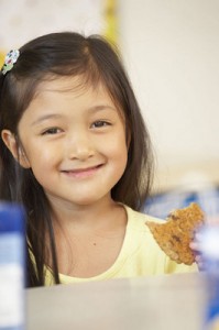
[{"label": "plain cream wall to the right of the girl's hair", "polygon": [[219,1],[120,0],[119,15],[157,185],[219,182]]}]

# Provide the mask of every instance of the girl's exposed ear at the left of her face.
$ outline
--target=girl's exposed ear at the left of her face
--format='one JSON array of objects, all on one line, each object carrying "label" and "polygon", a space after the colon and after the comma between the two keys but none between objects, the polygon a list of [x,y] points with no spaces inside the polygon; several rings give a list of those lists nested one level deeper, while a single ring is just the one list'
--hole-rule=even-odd
[{"label": "girl's exposed ear at the left of her face", "polygon": [[18,140],[15,139],[14,134],[11,133],[9,130],[3,130],[1,132],[1,138],[7,145],[7,147],[10,150],[13,157],[19,162],[19,164],[24,168],[30,168],[31,165],[29,163],[29,160],[24,153],[24,150],[21,145],[19,145]]}]

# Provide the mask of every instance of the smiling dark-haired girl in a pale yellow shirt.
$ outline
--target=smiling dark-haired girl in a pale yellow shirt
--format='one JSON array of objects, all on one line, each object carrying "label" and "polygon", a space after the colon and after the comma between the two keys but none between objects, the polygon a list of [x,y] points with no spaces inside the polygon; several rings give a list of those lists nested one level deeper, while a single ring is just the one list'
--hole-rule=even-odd
[{"label": "smiling dark-haired girl in a pale yellow shirt", "polygon": [[194,270],[161,251],[138,212],[150,136],[101,37],[53,33],[11,51],[0,130],[0,198],[26,210],[29,286]]}]

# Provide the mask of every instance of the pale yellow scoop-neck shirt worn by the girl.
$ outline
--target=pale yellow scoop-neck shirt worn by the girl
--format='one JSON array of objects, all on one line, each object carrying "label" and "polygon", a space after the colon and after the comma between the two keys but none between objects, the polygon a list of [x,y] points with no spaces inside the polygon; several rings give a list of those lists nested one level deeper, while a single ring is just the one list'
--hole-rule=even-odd
[{"label": "pale yellow scoop-neck shirt worn by the girl", "polygon": [[[136,212],[124,206],[128,215],[128,223],[122,249],[109,270],[89,278],[78,278],[59,274],[61,283],[83,283],[91,280],[105,280],[110,278],[138,277],[146,275],[162,275],[173,273],[196,272],[193,264],[177,264],[172,261],[157,245],[145,221],[162,222],[144,213]],[[45,285],[53,284],[50,268],[45,268]]]}]

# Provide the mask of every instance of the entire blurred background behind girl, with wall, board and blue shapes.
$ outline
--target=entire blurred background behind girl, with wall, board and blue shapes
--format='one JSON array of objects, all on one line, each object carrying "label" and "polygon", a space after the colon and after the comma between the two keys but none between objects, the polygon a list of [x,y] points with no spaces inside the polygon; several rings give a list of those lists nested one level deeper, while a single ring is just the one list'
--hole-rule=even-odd
[{"label": "entire blurred background behind girl, with wall, board and blue shapes", "polygon": [[48,32],[117,43],[156,155],[145,210],[165,217],[199,201],[219,213],[218,0],[0,0],[0,12],[1,64],[8,51]]}]

